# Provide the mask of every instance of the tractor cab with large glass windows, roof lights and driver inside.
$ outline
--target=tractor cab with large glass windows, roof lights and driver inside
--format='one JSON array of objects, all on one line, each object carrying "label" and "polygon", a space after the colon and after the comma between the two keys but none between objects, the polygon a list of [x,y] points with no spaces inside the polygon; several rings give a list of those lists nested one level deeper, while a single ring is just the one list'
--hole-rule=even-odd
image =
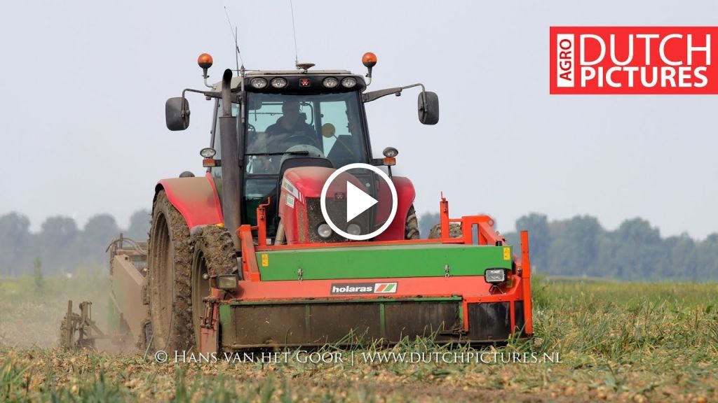
[{"label": "tractor cab with large glass windows, roof lights and driver inside", "polygon": [[[240,77],[237,77],[240,78]],[[267,203],[267,235],[274,237],[277,203],[284,172],[299,166],[340,168],[369,163],[370,144],[361,100],[365,82],[346,70],[257,71],[244,77],[246,110],[237,119],[243,159],[242,222],[256,222],[256,209]],[[233,86],[241,86],[233,80]],[[220,90],[221,83],[215,85]],[[236,88],[239,89],[239,88]],[[220,116],[223,101],[215,102],[215,158],[221,158]],[[239,100],[232,114],[241,113]],[[210,167],[215,184],[221,167]]]}]

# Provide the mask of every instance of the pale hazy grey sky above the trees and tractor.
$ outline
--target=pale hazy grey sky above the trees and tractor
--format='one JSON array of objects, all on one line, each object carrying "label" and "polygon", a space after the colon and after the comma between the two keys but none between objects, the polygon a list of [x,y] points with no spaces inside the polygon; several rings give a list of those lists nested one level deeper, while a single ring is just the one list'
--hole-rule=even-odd
[{"label": "pale hazy grey sky above the trees and tractor", "polygon": [[[164,101],[202,88],[202,52],[211,81],[234,67],[224,5],[247,68],[293,68],[289,0],[2,1],[0,214],[126,226],[158,179],[202,174],[211,103],[190,95],[190,128],[170,132]],[[294,0],[294,13],[299,60],[363,73],[372,51],[370,89],[439,94],[435,126],[412,90],[367,106],[374,152],[398,148],[419,213],[444,191],[452,216],[486,212],[503,231],[542,212],[718,232],[714,96],[549,95],[551,25],[717,25],[716,1]]]}]

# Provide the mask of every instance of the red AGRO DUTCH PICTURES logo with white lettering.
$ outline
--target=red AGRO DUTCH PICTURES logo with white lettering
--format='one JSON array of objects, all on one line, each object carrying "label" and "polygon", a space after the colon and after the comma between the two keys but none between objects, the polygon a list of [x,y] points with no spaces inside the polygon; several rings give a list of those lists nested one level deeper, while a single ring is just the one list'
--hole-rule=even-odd
[{"label": "red AGRO DUTCH PICTURES logo with white lettering", "polygon": [[551,94],[718,94],[718,27],[551,27]]}]

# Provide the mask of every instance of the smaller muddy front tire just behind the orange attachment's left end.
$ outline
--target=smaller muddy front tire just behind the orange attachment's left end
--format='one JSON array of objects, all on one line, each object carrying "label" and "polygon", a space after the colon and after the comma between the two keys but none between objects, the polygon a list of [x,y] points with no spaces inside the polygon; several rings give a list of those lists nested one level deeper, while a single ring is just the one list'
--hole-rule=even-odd
[{"label": "smaller muddy front tire just behind the orange attachment's left end", "polygon": [[[194,231],[192,231],[194,232]],[[208,225],[192,234],[195,252],[192,257],[192,328],[198,345],[200,318],[205,315],[202,298],[210,295],[210,284],[203,275],[229,274],[237,269],[237,254],[232,237],[226,228]]]}]

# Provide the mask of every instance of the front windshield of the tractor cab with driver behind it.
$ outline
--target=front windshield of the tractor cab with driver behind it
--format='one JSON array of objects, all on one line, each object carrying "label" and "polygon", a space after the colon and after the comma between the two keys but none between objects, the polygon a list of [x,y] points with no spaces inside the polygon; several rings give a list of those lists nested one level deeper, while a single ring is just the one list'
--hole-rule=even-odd
[{"label": "front windshield of the tractor cab with driver behind it", "polygon": [[367,162],[356,93],[248,93],[247,105],[246,174],[278,174],[292,156]]}]

